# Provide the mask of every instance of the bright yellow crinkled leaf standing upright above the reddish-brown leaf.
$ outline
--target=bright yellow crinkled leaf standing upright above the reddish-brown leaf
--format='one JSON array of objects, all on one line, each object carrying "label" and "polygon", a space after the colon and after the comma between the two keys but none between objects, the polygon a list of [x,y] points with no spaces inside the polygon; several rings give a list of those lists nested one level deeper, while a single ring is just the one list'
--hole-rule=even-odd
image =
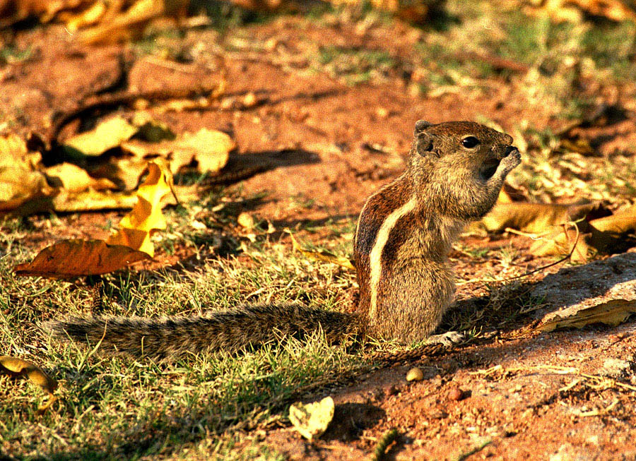
[{"label": "bright yellow crinkled leaf standing upright above the reddish-brown leaf", "polygon": [[107,242],[126,245],[154,256],[155,249],[151,235],[158,229],[166,228],[161,208],[163,199],[172,191],[172,174],[163,159],[148,162],[148,176],[137,191],[138,201],[131,212],[119,222],[119,232]]}]

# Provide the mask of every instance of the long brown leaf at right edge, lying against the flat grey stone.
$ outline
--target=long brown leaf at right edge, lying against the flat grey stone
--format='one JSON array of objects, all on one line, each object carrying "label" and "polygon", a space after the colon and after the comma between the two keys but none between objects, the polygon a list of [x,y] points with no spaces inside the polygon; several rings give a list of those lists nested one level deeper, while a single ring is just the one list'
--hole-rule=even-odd
[{"label": "long brown leaf at right edge, lying against the flat grey stone", "polygon": [[583,328],[585,325],[591,325],[592,323],[605,323],[606,325],[616,326],[623,323],[631,313],[636,313],[636,301],[613,299],[597,306],[580,309],[573,313],[572,316],[565,318],[555,315],[539,325],[537,330],[550,332],[557,328]]}]

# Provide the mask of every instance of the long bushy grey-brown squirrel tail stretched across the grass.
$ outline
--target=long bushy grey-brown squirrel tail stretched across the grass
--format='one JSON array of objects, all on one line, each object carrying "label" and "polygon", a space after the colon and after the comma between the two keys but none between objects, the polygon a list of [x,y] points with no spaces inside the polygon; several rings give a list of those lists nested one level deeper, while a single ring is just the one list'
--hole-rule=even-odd
[{"label": "long bushy grey-brown squirrel tail stretched across the grass", "polygon": [[165,360],[187,352],[236,351],[281,336],[302,336],[322,328],[328,340],[363,333],[351,313],[310,309],[300,305],[244,306],[206,316],[75,317],[49,323],[57,337],[96,345],[110,355]]}]

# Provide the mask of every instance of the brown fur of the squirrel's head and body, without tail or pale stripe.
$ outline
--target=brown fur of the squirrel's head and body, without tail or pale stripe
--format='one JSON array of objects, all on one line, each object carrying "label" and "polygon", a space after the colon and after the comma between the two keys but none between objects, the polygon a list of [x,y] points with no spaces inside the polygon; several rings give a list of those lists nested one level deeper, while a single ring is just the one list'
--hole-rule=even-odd
[{"label": "brown fur of the squirrel's head and body, without tail or pale stripe", "polygon": [[[466,149],[461,140],[478,138]],[[367,200],[360,213],[354,256],[360,285],[358,312],[371,316],[370,330],[404,342],[424,340],[439,325],[454,298],[447,254],[464,224],[485,215],[519,152],[507,149],[507,134],[468,122],[418,122],[406,172]],[[508,149],[510,150],[510,149]],[[496,167],[484,180],[485,167]],[[409,199],[416,207],[400,217],[382,249],[377,306],[370,314],[370,255],[378,221]]]}]

